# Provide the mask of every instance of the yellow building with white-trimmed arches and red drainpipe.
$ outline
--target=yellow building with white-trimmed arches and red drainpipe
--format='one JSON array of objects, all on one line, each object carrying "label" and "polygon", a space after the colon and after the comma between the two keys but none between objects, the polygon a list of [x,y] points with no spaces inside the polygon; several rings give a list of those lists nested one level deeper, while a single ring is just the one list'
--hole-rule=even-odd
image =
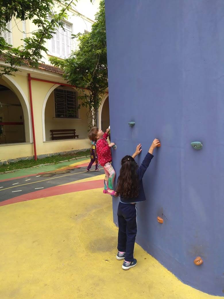
[{"label": "yellow building with white-trimmed arches and red drainpipe", "polygon": [[[39,64],[38,69],[21,66],[15,76],[0,78],[0,164],[33,158],[35,153],[43,158],[90,148],[87,108],[77,109],[80,91],[67,85],[62,70],[51,66],[48,59],[66,58],[76,49],[77,42],[71,39],[71,34],[90,31],[98,7],[99,0],[93,3],[80,0],[64,21],[65,31],[58,30],[47,41],[49,51],[44,54],[45,64]],[[30,20],[12,20],[8,28],[10,33],[4,34],[4,38],[18,47],[21,39],[35,30],[35,25]],[[3,60],[1,64],[4,65]],[[98,115],[99,127],[106,129],[109,125],[107,91]]]}]

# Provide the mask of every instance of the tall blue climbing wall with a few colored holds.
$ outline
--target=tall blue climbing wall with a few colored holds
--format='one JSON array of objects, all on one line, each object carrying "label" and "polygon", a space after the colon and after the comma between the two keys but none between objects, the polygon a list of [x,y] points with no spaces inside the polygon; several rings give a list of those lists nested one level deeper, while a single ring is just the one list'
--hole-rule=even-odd
[{"label": "tall blue climbing wall with a few colored holds", "polygon": [[143,180],[136,242],[184,283],[223,296],[224,1],[105,0],[105,8],[116,172],[139,142],[138,163],[154,138],[162,143]]}]

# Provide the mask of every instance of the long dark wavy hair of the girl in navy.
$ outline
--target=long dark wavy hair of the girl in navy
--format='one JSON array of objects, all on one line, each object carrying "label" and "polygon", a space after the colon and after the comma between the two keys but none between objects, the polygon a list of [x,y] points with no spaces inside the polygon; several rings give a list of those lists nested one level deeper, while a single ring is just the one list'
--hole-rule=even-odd
[{"label": "long dark wavy hair of the girl in navy", "polygon": [[139,177],[137,175],[138,164],[131,156],[125,156],[121,160],[120,175],[116,193],[121,197],[135,198],[139,196]]}]

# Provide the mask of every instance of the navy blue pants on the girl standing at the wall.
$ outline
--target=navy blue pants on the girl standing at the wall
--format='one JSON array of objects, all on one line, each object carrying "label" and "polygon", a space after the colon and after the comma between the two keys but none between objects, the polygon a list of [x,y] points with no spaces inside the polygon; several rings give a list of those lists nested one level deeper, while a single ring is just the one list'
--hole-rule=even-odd
[{"label": "navy blue pants on the girl standing at the wall", "polygon": [[136,204],[123,204],[119,202],[118,216],[118,251],[125,251],[125,260],[132,262],[134,259],[134,245],[137,234]]}]

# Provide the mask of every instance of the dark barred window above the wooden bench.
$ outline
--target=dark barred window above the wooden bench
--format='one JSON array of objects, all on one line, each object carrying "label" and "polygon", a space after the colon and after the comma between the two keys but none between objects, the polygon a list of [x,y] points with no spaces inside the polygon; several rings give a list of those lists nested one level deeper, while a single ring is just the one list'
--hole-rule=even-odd
[{"label": "dark barred window above the wooden bench", "polygon": [[55,116],[78,118],[76,92],[66,89],[54,90]]}]

